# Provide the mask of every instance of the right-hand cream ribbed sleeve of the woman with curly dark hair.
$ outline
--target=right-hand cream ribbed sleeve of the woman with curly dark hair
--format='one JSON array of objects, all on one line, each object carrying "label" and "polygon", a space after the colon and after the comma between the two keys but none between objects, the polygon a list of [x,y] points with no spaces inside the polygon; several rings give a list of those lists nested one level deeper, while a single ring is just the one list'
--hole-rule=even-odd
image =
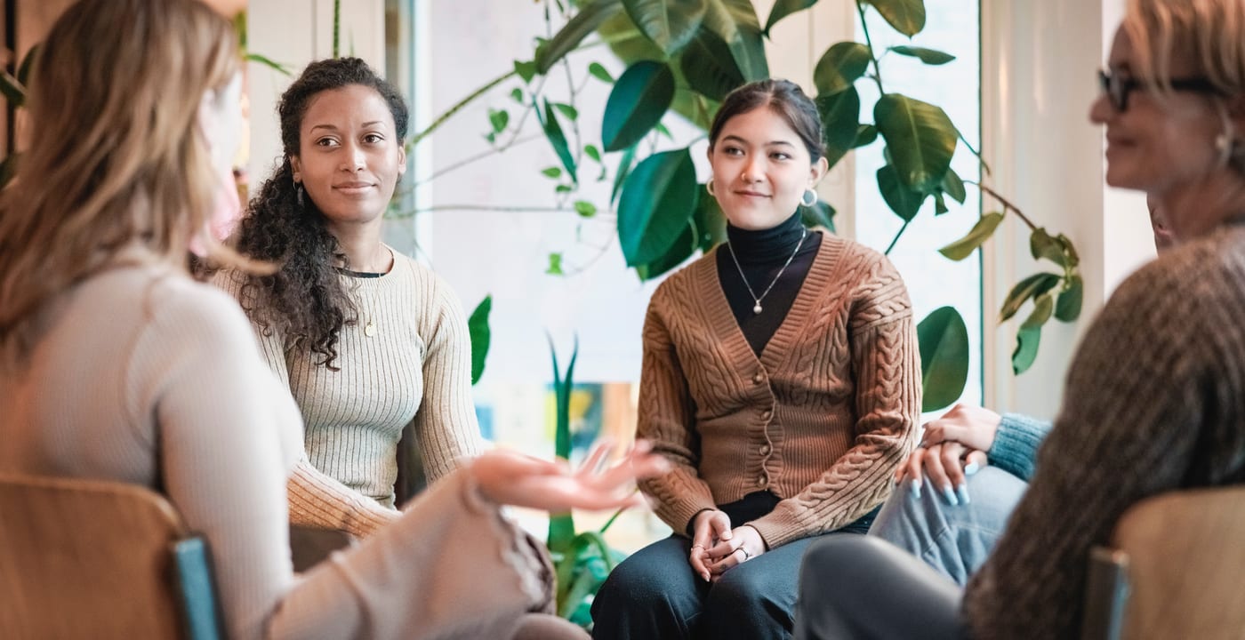
[{"label": "right-hand cream ribbed sleeve of the woman with curly dark hair", "polygon": [[[413,420],[428,483],[446,476],[467,458],[479,456],[483,440],[471,391],[471,332],[458,296],[436,275],[421,283],[420,300],[433,310],[421,320],[427,350],[423,356],[423,400]],[[425,331],[425,326],[427,330]]]}]

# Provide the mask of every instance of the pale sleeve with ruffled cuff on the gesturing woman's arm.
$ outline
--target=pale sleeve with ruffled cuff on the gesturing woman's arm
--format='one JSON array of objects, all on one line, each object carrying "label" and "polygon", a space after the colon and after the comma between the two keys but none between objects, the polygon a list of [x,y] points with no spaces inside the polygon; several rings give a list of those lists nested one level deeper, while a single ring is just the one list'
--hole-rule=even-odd
[{"label": "pale sleeve with ruffled cuff on the gesturing woman's arm", "polygon": [[230,638],[512,633],[542,595],[538,559],[466,472],[430,489],[393,525],[296,578],[285,486],[300,441],[298,408],[224,296],[186,304],[157,294],[156,326],[134,347],[128,386],[138,390],[134,411],[151,412],[159,426],[171,502],[210,544]]}]

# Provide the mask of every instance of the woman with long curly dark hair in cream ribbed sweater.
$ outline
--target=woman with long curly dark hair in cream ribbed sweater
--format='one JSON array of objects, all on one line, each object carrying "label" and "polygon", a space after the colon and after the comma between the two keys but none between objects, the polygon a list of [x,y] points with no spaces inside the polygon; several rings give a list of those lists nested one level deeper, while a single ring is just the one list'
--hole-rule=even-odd
[{"label": "woman with long curly dark hair in cream ribbed sweater", "polygon": [[367,537],[397,518],[408,426],[430,481],[482,449],[471,342],[449,286],[381,242],[406,171],[407,107],[359,59],[312,62],[281,96],[284,154],[235,232],[280,265],[217,274],[255,326],[306,422],[290,520]]}]

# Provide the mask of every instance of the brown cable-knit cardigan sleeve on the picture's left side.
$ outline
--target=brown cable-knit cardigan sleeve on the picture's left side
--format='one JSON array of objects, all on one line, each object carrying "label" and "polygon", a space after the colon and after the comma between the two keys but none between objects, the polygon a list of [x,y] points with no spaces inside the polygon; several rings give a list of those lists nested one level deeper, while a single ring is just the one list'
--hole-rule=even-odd
[{"label": "brown cable-knit cardigan sleeve on the picture's left side", "polygon": [[644,321],[644,361],[636,436],[652,442],[652,451],[672,464],[665,476],[639,482],[652,511],[675,532],[686,532],[698,512],[713,509],[713,494],[696,471],[700,436],[696,405],[687,388],[670,327],[662,318],[665,288],[659,288]]}]

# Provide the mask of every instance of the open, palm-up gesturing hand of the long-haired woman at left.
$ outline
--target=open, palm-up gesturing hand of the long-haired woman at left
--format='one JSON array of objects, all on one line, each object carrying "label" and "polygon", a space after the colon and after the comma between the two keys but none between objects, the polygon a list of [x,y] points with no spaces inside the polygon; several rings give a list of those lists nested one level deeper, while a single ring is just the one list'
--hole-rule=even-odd
[{"label": "open, palm-up gesturing hand of the long-haired woman at left", "polygon": [[616,463],[601,467],[609,445],[596,445],[576,471],[565,464],[494,449],[476,458],[469,473],[479,491],[498,504],[514,504],[549,512],[570,509],[616,509],[644,504],[635,493],[636,478],[651,478],[670,471],[670,462],[650,453],[645,441]]}]

